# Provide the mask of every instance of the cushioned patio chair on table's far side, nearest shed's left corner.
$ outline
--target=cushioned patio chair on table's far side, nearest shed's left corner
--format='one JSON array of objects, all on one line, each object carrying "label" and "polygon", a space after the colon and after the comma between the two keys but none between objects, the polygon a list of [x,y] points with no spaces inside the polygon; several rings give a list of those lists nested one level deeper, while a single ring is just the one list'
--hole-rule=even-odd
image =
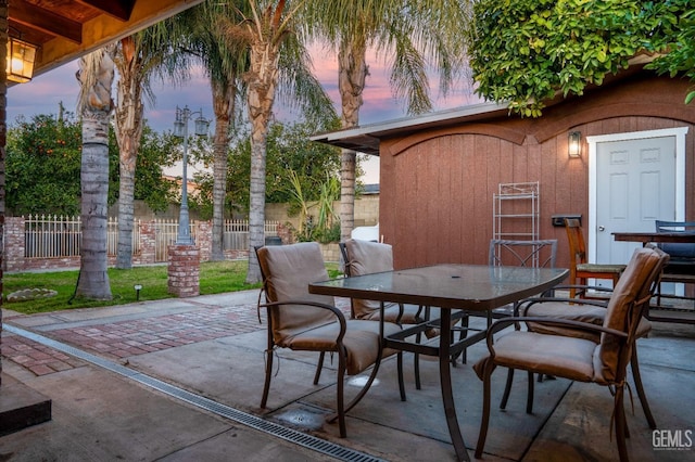
[{"label": "cushioned patio chair on table's far side, nearest shed's left corner", "polygon": [[[339,244],[343,261],[345,264],[345,275],[370,274],[375,272],[393,270],[393,249],[391,245],[350,239]],[[402,324],[420,324],[428,320],[425,316],[426,309],[414,305],[403,305],[396,303],[384,303],[383,320]],[[352,318],[365,321],[381,320],[381,303],[377,300],[364,300],[358,298],[350,299],[350,312]],[[416,342],[420,343],[421,335],[416,335]],[[431,336],[431,332],[428,336]],[[415,387],[421,388],[419,355],[415,354]]]}]

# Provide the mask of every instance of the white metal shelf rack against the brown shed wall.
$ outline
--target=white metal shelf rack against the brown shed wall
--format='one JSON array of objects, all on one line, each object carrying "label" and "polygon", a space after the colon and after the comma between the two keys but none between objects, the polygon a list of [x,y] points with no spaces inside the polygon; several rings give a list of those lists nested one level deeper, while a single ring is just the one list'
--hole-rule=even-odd
[{"label": "white metal shelf rack against the brown shed wall", "polygon": [[493,239],[530,241],[538,240],[539,234],[539,182],[500,183],[493,194]]}]

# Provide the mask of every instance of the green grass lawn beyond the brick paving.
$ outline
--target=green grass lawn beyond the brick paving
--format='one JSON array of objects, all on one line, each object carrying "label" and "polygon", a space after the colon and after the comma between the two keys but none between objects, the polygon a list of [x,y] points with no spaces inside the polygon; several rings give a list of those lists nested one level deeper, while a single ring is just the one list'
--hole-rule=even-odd
[{"label": "green grass lawn beyond the brick paving", "polygon": [[[200,265],[200,294],[220,294],[225,292],[257,288],[261,284],[244,284],[248,261],[207,261]],[[331,278],[340,274],[337,265],[328,265]],[[142,286],[140,301],[170,298],[167,288],[167,266],[137,267],[129,270],[109,269],[109,281],[113,299],[93,301],[74,298],[79,271],[24,272],[4,274],[2,279],[3,308],[25,315],[36,312],[59,311],[75,308],[92,308],[123,305],[137,301],[135,285]],[[58,292],[56,296],[35,298],[24,301],[8,303],[8,295],[27,288],[49,288]]]}]

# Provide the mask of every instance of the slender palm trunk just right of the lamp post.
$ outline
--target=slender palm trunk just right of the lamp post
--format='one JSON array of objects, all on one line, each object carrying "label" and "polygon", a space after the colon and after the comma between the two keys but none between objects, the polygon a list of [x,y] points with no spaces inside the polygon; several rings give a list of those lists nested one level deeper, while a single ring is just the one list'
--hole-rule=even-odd
[{"label": "slender palm trunk just right of the lamp post", "polygon": [[211,259],[225,259],[224,224],[227,195],[227,156],[229,152],[229,123],[233,114],[236,87],[211,81],[213,111],[215,112],[215,141],[213,165],[213,248]]}]

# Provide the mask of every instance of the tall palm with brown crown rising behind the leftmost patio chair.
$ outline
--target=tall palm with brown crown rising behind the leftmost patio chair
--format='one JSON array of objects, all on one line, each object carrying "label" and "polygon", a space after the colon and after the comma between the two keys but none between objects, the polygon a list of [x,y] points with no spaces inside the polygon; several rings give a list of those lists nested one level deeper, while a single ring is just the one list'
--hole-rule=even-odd
[{"label": "tall palm with brown crown rising behind the leftmost patio chair", "polygon": [[[247,105],[251,121],[251,185],[249,209],[249,270],[247,283],[261,280],[254,247],[264,244],[265,164],[268,123],[276,90],[292,91],[305,110],[323,111],[330,117],[330,100],[308,72],[309,57],[293,30],[293,22],[303,1],[289,8],[285,0],[249,0],[236,9],[238,21],[224,17],[220,26],[229,43],[249,49]],[[233,47],[232,47],[233,48]],[[282,76],[283,74],[283,76]],[[285,77],[285,84],[279,86]]]}]

